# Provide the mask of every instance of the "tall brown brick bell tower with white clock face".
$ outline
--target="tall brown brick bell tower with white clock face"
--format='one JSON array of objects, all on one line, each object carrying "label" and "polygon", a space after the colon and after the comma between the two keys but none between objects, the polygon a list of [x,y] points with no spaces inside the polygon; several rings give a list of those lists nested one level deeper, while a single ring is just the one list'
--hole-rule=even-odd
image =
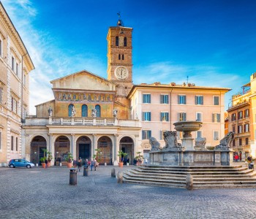
[{"label": "tall brown brick bell tower with white clock face", "polygon": [[132,88],[132,28],[124,27],[120,13],[117,26],[108,29],[107,41],[108,80],[116,82],[117,97],[126,98]]}]

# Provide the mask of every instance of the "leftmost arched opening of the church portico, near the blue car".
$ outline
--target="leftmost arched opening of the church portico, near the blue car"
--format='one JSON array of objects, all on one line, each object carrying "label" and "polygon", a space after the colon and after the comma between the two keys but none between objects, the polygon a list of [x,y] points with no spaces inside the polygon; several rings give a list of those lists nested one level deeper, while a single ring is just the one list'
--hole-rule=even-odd
[{"label": "leftmost arched opening of the church portico, near the blue car", "polygon": [[44,137],[36,136],[31,141],[30,161],[34,164],[41,164],[40,158],[44,156],[42,149],[46,149],[47,143]]}]

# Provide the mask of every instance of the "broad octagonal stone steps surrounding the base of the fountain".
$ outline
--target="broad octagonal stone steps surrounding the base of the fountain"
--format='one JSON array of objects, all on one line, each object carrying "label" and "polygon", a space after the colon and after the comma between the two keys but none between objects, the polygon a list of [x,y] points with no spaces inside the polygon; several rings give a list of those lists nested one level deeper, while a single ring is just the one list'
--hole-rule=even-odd
[{"label": "broad octagonal stone steps surrounding the base of the fountain", "polygon": [[246,166],[138,166],[124,172],[124,183],[185,188],[187,174],[194,188],[256,188],[256,172]]}]

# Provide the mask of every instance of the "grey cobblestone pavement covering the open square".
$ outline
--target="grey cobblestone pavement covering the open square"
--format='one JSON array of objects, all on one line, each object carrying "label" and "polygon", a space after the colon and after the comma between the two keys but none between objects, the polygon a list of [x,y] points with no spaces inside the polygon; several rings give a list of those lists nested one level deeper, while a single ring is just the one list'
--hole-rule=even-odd
[{"label": "grey cobblestone pavement covering the open square", "polygon": [[78,185],[69,185],[66,167],[0,168],[0,218],[256,218],[256,188],[117,184],[111,169],[78,172]]}]

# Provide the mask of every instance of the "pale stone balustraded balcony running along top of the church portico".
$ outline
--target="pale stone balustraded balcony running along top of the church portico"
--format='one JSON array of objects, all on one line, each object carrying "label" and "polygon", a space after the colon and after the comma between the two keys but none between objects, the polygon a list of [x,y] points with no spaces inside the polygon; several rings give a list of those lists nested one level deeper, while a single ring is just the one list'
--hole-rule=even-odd
[{"label": "pale stone balustraded balcony running along top of the church portico", "polygon": [[140,127],[139,120],[117,118],[26,118],[23,126],[123,126]]}]

